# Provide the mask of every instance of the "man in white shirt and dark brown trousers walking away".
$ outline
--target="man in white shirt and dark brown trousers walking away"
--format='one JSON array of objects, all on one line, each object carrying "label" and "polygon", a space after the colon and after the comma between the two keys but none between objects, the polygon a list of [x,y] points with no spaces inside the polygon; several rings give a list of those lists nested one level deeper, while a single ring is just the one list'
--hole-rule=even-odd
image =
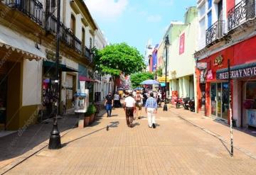
[{"label": "man in white shirt and dark brown trousers walking away", "polygon": [[129,128],[132,128],[134,112],[136,112],[135,103],[136,101],[132,97],[132,93],[129,93],[129,96],[127,96],[127,98],[124,100],[124,112],[127,120],[127,126]]}]

